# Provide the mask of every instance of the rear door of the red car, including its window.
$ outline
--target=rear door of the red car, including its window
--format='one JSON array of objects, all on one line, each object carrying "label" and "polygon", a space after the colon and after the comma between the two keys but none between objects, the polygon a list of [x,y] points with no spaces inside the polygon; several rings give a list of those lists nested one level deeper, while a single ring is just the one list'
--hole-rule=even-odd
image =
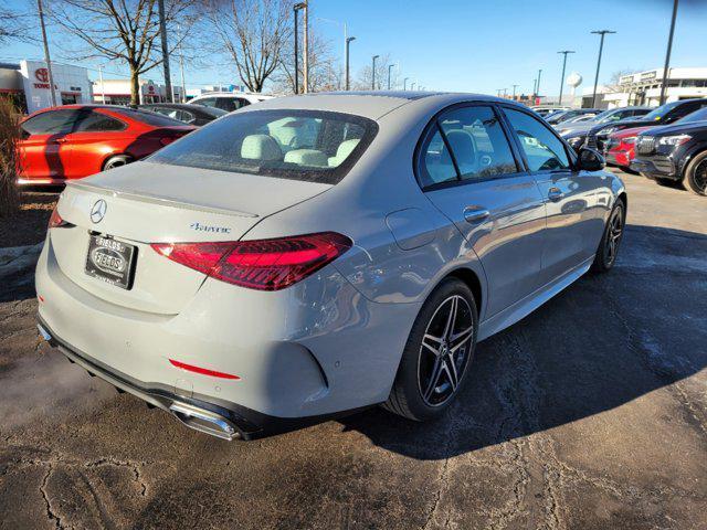
[{"label": "rear door of the red car, including its window", "polygon": [[125,139],[127,124],[104,114],[98,108],[84,108],[68,135],[72,147],[66,178],[80,179],[99,172],[106,158]]}]

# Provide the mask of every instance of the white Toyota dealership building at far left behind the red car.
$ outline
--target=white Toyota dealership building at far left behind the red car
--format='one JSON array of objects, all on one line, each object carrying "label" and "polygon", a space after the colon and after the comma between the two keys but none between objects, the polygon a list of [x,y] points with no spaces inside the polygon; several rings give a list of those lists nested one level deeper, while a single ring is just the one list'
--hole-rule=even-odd
[{"label": "white Toyota dealership building at far left behind the red car", "polygon": [[[93,100],[92,84],[86,68],[52,61],[52,76],[57,105],[85,104]],[[52,93],[46,63],[0,63],[0,94],[10,96],[15,105],[27,113],[51,107]]]}]

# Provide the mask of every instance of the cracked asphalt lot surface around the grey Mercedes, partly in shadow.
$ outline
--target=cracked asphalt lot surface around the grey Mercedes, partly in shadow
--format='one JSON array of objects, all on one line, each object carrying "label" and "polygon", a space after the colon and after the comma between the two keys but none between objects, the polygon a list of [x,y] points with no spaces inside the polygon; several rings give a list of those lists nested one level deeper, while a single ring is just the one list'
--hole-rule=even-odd
[{"label": "cracked asphalt lot surface around the grey Mercedes, partly in shadow", "polygon": [[623,176],[616,268],[482,342],[435,424],[252,443],[183,428],[42,343],[0,283],[0,528],[699,528],[707,203]]}]

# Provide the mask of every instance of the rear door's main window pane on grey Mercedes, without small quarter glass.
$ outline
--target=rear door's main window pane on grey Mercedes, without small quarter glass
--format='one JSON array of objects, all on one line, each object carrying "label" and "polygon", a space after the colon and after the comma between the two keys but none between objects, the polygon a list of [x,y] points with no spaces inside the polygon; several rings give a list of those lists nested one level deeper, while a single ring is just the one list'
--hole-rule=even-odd
[{"label": "rear door's main window pane on grey Mercedes, without small quarter glass", "polygon": [[515,173],[506,135],[490,107],[451,110],[439,119],[463,180]]}]

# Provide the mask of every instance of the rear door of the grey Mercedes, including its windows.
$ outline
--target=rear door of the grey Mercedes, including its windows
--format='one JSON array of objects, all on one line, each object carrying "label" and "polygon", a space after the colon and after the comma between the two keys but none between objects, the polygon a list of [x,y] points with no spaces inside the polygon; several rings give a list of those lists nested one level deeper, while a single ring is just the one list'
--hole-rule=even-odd
[{"label": "rear door of the grey Mercedes, including its windows", "polygon": [[542,253],[542,197],[507,134],[493,105],[452,107],[429,127],[416,165],[425,195],[481,259],[486,318],[535,290]]}]

